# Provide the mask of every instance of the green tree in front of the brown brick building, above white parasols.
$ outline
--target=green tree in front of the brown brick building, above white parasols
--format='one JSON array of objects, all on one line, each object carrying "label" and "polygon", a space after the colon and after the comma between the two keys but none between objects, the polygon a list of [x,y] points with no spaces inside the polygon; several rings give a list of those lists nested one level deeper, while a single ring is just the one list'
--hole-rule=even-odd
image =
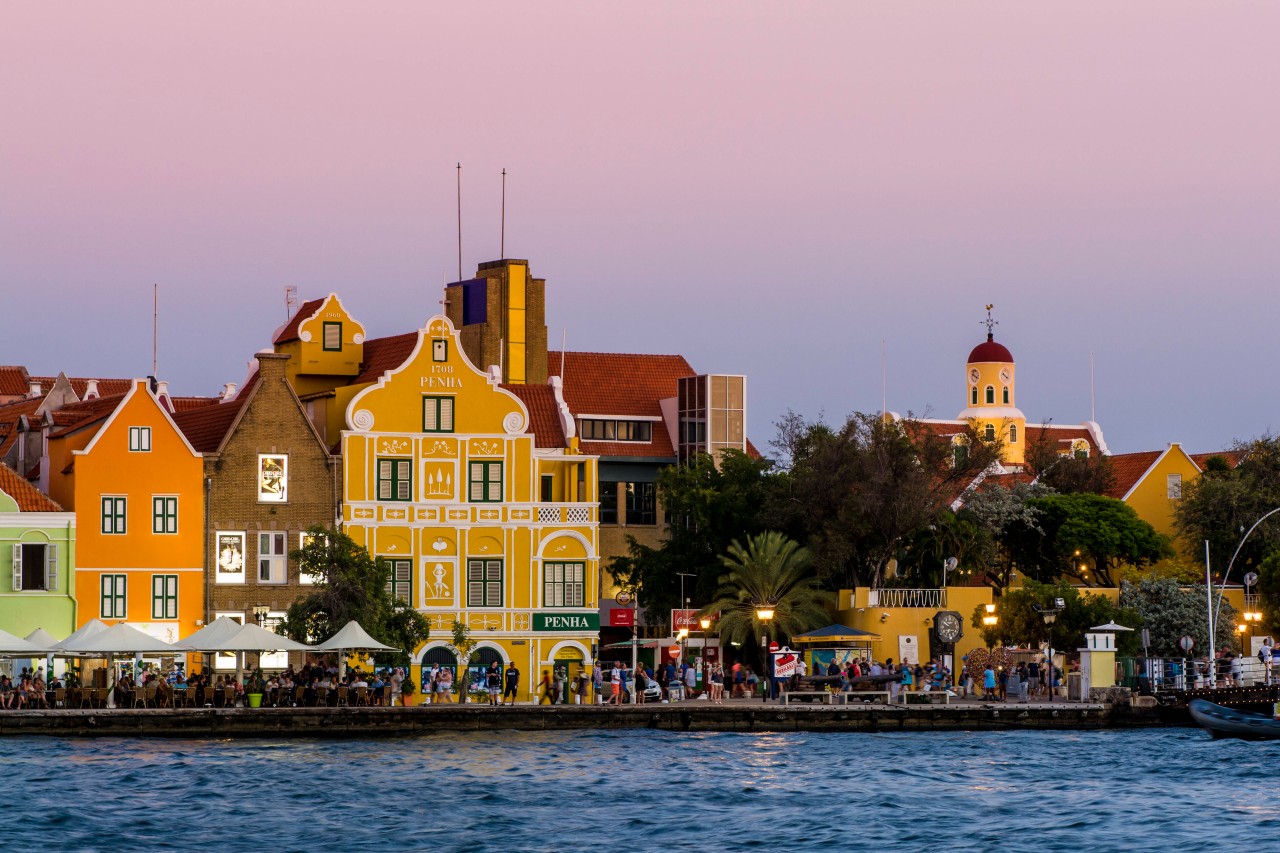
[{"label": "green tree in front of the brown brick building, above white parasols", "polygon": [[280,621],[279,631],[300,643],[315,643],[355,620],[396,652],[379,652],[383,666],[406,665],[410,653],[426,642],[430,622],[388,589],[390,566],[338,528],[314,526],[306,544],[289,556],[315,585],[298,598]]}]

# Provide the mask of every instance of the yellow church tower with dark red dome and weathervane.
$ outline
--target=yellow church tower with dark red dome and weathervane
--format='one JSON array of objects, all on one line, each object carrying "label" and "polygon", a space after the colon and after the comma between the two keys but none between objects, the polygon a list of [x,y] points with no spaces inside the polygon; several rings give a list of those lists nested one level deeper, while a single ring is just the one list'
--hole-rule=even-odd
[{"label": "yellow church tower with dark red dome and weathervane", "polygon": [[996,320],[987,306],[987,339],[973,348],[965,364],[965,384],[969,405],[960,412],[960,420],[973,420],[978,434],[988,441],[1000,438],[1005,443],[1002,461],[1023,465],[1027,460],[1027,416],[1016,405],[1014,356],[996,342]]}]

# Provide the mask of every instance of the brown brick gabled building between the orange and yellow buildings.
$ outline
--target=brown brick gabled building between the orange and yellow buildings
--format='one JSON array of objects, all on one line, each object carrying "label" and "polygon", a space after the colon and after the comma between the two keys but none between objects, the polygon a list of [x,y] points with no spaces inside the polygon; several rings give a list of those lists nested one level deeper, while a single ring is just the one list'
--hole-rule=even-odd
[{"label": "brown brick gabled building between the orange and yellow buildings", "polygon": [[260,352],[257,373],[234,398],[174,416],[205,455],[206,624],[265,611],[270,628],[306,592],[289,552],[307,528],[338,517],[340,460],[287,382],[288,361]]}]

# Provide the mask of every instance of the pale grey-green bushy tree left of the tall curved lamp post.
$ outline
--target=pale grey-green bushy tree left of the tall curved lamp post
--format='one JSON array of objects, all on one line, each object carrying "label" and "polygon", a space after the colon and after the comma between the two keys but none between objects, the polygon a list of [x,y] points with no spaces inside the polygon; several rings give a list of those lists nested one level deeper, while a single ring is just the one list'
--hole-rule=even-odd
[{"label": "pale grey-green bushy tree left of the tall curved lamp post", "polygon": [[[1217,605],[1217,593],[1213,594]],[[1137,612],[1151,634],[1151,653],[1157,657],[1183,657],[1178,644],[1189,635],[1196,646],[1193,654],[1208,653],[1208,605],[1204,584],[1184,587],[1171,578],[1144,578],[1124,584],[1120,605]],[[1215,631],[1216,647],[1230,648],[1235,640],[1235,608],[1224,599]]]}]

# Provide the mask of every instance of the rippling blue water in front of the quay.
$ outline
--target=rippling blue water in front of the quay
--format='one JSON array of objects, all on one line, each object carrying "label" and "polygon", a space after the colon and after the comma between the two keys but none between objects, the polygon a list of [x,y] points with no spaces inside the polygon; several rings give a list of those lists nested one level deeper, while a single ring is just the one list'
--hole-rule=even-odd
[{"label": "rippling blue water in front of the quay", "polygon": [[1277,850],[1277,758],[1192,729],[0,740],[5,835],[59,850]]}]

